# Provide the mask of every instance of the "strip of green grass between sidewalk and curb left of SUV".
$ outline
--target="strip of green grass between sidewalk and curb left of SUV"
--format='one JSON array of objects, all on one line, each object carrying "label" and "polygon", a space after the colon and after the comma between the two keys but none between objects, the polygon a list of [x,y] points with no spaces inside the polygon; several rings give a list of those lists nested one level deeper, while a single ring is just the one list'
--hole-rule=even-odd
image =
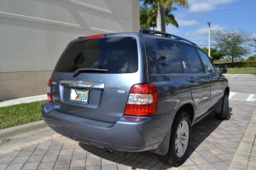
[{"label": "strip of green grass between sidewalk and curb left of SUV", "polygon": [[0,107],[0,129],[43,120],[41,104],[46,101]]}]

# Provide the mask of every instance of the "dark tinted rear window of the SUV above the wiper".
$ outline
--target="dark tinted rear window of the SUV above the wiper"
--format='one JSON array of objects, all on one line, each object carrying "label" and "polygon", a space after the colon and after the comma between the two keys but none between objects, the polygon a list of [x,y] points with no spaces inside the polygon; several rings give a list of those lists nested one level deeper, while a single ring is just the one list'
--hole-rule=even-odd
[{"label": "dark tinted rear window of the SUV above the wiper", "polygon": [[68,45],[57,65],[57,72],[80,68],[106,69],[107,73],[137,71],[137,42],[134,37],[105,37]]}]

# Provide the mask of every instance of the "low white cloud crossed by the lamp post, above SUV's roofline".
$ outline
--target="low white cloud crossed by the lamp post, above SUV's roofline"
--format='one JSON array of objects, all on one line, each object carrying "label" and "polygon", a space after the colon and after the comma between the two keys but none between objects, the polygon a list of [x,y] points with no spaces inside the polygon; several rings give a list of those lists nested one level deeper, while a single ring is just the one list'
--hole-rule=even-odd
[{"label": "low white cloud crossed by the lamp post, above SUV's roofline", "polygon": [[[212,25],[211,31],[223,31],[226,30],[224,26]],[[195,31],[187,31],[184,36],[191,41],[207,40],[208,38],[208,26],[204,26]]]}]

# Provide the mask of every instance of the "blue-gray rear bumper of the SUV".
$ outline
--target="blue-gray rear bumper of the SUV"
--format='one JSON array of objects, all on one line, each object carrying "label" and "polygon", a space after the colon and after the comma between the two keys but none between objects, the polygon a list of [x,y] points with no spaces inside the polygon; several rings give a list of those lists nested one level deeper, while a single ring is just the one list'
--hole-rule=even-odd
[{"label": "blue-gray rear bumper of the SUV", "polygon": [[139,121],[131,120],[136,116],[122,116],[118,122],[109,123],[55,111],[52,103],[44,103],[41,111],[44,122],[55,132],[84,144],[131,152],[158,152],[159,149],[163,150],[163,145],[166,147],[166,142],[169,145],[169,138],[166,136],[171,132],[173,114],[137,117],[143,118]]}]

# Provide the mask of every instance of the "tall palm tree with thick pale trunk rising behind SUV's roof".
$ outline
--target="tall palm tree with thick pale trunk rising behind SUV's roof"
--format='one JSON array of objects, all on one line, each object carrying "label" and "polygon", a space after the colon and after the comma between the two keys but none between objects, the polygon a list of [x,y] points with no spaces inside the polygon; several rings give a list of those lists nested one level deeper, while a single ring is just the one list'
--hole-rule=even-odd
[{"label": "tall palm tree with thick pale trunk rising behind SUV's roof", "polygon": [[157,5],[157,19],[156,25],[159,31],[166,31],[166,8],[172,6],[173,3],[178,6],[188,8],[189,3],[187,0],[140,0],[144,4],[153,4]]}]

